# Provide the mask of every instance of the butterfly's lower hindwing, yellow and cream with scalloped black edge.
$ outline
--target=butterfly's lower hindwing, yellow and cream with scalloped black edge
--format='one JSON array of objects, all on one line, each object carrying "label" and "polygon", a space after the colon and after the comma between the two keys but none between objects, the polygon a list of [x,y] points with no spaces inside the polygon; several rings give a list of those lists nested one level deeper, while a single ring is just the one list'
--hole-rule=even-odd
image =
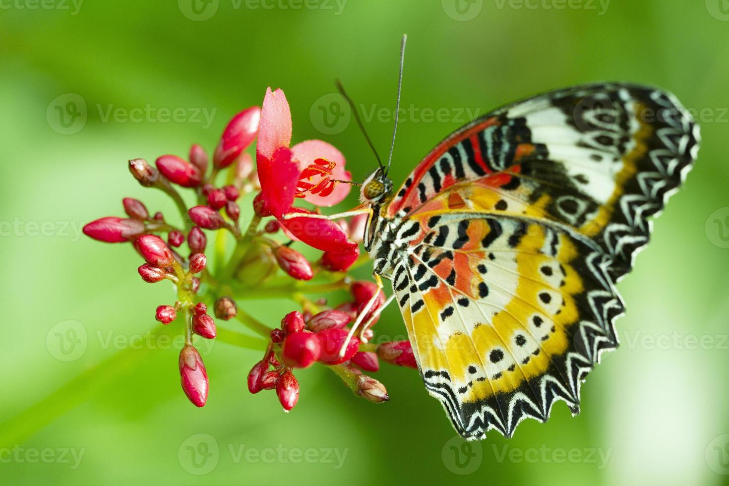
[{"label": "butterfly's lower hindwing, yellow and cream with scalloped black edge", "polygon": [[429,392],[468,439],[553,401],[576,412],[580,380],[615,348],[623,304],[588,238],[538,221],[423,215],[393,286]]}]

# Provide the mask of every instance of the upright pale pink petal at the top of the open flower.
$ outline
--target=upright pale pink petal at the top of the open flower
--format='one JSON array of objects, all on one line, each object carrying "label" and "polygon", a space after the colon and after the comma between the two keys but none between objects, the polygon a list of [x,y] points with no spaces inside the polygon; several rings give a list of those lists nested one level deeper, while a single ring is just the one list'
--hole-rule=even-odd
[{"label": "upright pale pink petal at the top of the open flower", "polygon": [[279,147],[291,144],[291,110],[283,90],[266,90],[261,109],[256,158],[271,159]]}]

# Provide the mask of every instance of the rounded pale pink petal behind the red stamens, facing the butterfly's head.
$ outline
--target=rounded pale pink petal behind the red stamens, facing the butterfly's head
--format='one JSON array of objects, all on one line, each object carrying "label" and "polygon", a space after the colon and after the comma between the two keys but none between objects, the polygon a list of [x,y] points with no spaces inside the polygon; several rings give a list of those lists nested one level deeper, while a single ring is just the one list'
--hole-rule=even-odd
[{"label": "rounded pale pink petal behind the red stamens, facing the butterfly's head", "polygon": [[[326,159],[337,164],[335,165],[331,176],[332,179],[339,179],[342,181],[352,180],[351,173],[344,170],[344,165],[346,164],[344,155],[332,144],[327,144],[327,142],[321,140],[306,140],[300,144],[292,146],[291,150],[294,153],[294,158],[299,165],[300,171],[303,171],[309,165],[313,164],[316,159]],[[308,182],[316,184],[320,180],[321,176],[315,176],[308,180]],[[320,195],[310,194],[307,192],[304,200],[312,203],[313,205],[329,207],[340,203],[345,197],[347,197],[350,189],[350,184],[337,184],[334,188],[334,192],[326,197],[321,197]]]}]

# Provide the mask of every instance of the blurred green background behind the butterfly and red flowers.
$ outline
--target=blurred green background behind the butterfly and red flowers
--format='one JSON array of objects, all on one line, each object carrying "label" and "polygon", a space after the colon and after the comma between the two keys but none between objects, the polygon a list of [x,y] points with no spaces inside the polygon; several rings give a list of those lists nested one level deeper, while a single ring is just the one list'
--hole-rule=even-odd
[{"label": "blurred green background behind the butterfly and red flowers", "polygon": [[[3,484],[728,482],[725,1],[0,7]],[[332,142],[363,179],[374,162],[354,122],[332,128],[321,109],[339,77],[365,111],[391,110],[403,33],[403,106],[443,116],[405,116],[396,182],[468,113],[557,87],[644,82],[673,91],[697,114],[703,146],[695,170],[619,286],[628,307],[618,321],[622,347],[588,377],[582,415],[571,418],[557,404],[547,424],[529,420],[509,441],[492,433],[463,446],[416,372],[387,365],[377,374],[387,404],[356,399],[314,367],[297,373],[301,399],[284,414],[273,393],[246,390],[260,352],[222,342],[201,348],[211,395],[195,409],[179,389],[179,342],[153,331],[155,306],[174,298],[168,286],[143,283],[129,246],[82,238],[82,224],[122,215],[124,196],[174,214],[161,193],[139,187],[126,161],[184,155],[192,142],[213,149],[227,120],[259,104],[267,86],[284,88],[295,141]],[[170,121],[165,110],[180,118]],[[390,114],[368,117],[380,152],[389,146]],[[292,308],[246,302],[271,325]],[[223,326],[242,330],[235,321]],[[396,308],[377,330],[405,333]]]}]

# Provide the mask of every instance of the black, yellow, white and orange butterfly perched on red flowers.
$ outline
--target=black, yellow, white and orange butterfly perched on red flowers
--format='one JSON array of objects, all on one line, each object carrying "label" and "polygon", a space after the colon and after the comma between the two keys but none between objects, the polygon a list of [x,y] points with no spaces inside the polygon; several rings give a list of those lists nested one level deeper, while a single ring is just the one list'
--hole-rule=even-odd
[{"label": "black, yellow, white and orange butterfly perched on red flowers", "polygon": [[462,437],[510,437],[558,400],[577,415],[580,384],[617,347],[615,283],[699,142],[670,93],[582,85],[475,119],[397,190],[382,165],[364,181],[364,248]]}]

